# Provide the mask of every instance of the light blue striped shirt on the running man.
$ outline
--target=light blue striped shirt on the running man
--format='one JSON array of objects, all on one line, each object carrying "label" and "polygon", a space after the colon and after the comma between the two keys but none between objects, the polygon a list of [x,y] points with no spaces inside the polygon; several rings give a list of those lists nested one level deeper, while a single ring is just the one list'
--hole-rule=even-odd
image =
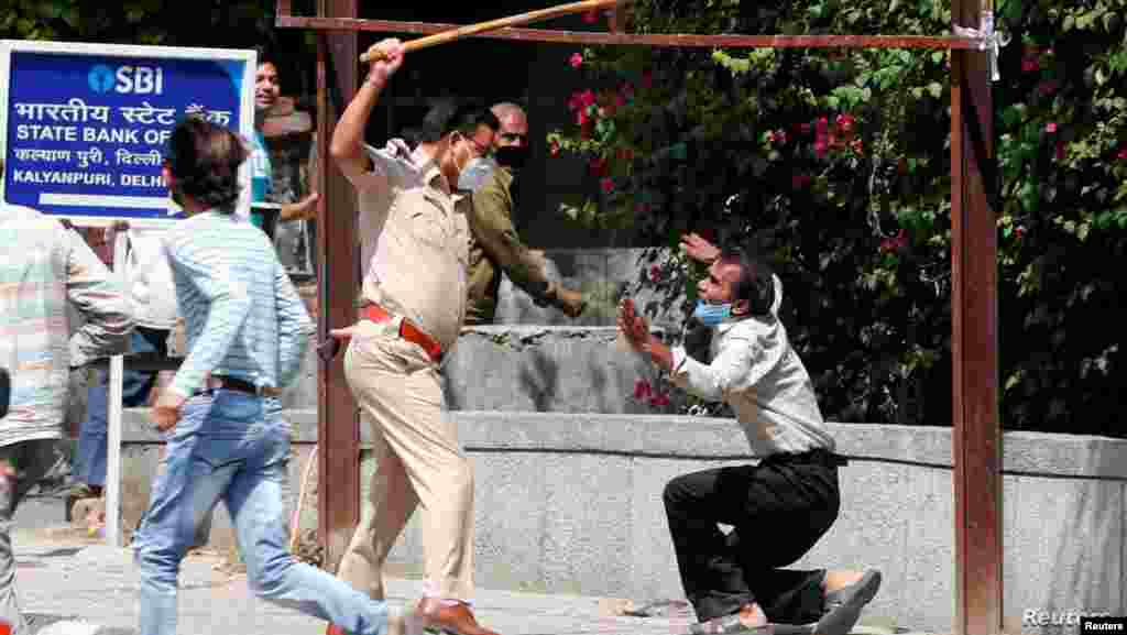
[{"label": "light blue striped shirt on the running man", "polygon": [[313,323],[269,238],[211,210],[178,222],[165,248],[189,351],[169,388],[190,396],[207,373],[289,386]]}]

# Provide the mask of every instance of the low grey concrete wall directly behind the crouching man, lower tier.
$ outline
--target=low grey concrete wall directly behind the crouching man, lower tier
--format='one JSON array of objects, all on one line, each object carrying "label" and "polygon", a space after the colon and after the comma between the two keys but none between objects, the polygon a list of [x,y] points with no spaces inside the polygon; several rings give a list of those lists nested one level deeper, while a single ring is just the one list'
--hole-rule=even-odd
[{"label": "low grey concrete wall directly behind the crouching man, lower tier", "polygon": [[[314,411],[290,413],[291,504],[316,443]],[[681,598],[660,501],[680,474],[751,460],[730,420],[673,415],[452,412],[476,470],[477,577],[486,588],[632,598]],[[123,527],[148,497],[159,443],[128,411]],[[842,512],[798,567],[878,567],[871,615],[946,632],[955,611],[951,430],[831,424],[840,451]],[[367,443],[370,431],[362,431]],[[1003,477],[1005,615],[1027,610],[1127,612],[1127,441],[1008,433]],[[361,455],[363,491],[373,471]],[[314,469],[316,474],[316,469]],[[313,506],[301,526],[316,523]],[[216,514],[212,541],[230,546]],[[764,544],[770,548],[770,544]],[[420,575],[418,514],[392,550],[398,574]],[[1023,629],[1038,633],[1037,629]],[[1047,635],[1051,629],[1047,628]],[[1053,630],[1061,633],[1061,630]]]}]

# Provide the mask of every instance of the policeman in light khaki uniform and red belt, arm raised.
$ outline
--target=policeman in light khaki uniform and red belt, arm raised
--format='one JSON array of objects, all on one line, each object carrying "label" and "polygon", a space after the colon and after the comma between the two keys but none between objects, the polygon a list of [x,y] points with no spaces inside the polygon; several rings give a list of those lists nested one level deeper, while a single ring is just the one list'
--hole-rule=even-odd
[{"label": "policeman in light khaki uniform and red belt, arm raised", "polygon": [[[369,76],[329,145],[356,189],[363,306],[356,324],[330,335],[348,342],[345,378],[372,430],[379,468],[337,576],[382,600],[388,554],[420,509],[426,580],[412,620],[453,635],[497,635],[471,608],[473,466],[443,413],[441,367],[465,314],[471,200],[458,184],[492,147],[499,123],[487,108],[452,100],[432,108],[412,134],[416,148],[405,139],[369,145],[369,117],[405,48],[390,38],[369,52]],[[334,625],[327,633],[344,630]]]}]

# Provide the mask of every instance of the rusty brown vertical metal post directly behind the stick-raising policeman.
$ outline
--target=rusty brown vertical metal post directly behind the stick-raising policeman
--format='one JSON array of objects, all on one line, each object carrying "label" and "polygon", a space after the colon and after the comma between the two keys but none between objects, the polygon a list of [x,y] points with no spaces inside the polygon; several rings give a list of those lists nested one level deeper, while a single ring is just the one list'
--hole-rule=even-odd
[{"label": "rusty brown vertical metal post directly behind the stick-raising policeman", "polygon": [[[322,17],[355,18],[357,0],[319,0]],[[356,320],[356,200],[352,185],[329,158],[332,130],[356,92],[356,32],[319,33],[317,45],[318,334]],[[331,71],[331,74],[330,74]],[[334,99],[329,99],[330,82]],[[321,360],[318,373],[318,536],[323,567],[336,571],[360,520],[360,421],[344,376],[344,355]]]}]

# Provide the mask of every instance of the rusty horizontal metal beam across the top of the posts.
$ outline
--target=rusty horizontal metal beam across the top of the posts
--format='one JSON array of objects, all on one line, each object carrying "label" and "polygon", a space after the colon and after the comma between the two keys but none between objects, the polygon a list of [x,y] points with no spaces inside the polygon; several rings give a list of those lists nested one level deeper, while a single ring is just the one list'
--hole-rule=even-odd
[{"label": "rusty horizontal metal beam across the top of the posts", "polygon": [[[398,20],[370,20],[361,18],[314,18],[278,15],[275,21],[282,28],[313,30],[418,33],[434,34],[465,25],[412,23]],[[604,44],[642,46],[695,46],[728,48],[978,48],[977,37],[928,35],[695,35],[695,34],[636,34],[545,28],[503,28],[468,37],[515,39],[520,42],[550,42],[558,44]]]}]

